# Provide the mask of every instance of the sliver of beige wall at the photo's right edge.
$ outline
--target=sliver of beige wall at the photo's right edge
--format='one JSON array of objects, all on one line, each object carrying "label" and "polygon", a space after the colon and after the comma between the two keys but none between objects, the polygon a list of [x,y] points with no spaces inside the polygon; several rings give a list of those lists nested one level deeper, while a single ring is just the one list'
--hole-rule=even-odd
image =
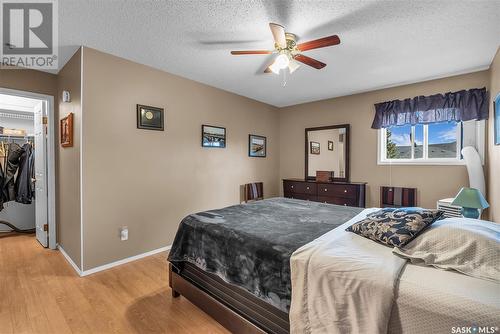
[{"label": "sliver of beige wall at the photo's right edge", "polygon": [[493,101],[500,94],[500,48],[490,67],[490,121],[488,131],[488,202],[490,220],[500,223],[500,146],[494,141]]}]

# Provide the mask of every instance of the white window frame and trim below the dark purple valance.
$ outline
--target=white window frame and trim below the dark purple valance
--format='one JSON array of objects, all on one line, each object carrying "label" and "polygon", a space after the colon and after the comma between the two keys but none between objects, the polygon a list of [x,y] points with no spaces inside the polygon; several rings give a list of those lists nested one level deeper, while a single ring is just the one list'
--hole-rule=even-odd
[{"label": "white window frame and trim below the dark purple valance", "polygon": [[[473,123],[472,123],[473,122]],[[425,158],[428,156],[428,127],[424,126],[423,156],[424,158],[414,159],[412,150],[411,159],[387,159],[386,158],[386,129],[380,129],[377,132],[377,164],[378,165],[465,165],[461,156],[461,148],[465,146],[474,146],[484,165],[484,152],[486,141],[486,121],[470,121],[468,124],[457,127],[457,157],[456,158]],[[463,130],[462,130],[463,129]],[[412,127],[412,137],[415,138],[415,129]],[[463,144],[463,145],[462,145]]]}]

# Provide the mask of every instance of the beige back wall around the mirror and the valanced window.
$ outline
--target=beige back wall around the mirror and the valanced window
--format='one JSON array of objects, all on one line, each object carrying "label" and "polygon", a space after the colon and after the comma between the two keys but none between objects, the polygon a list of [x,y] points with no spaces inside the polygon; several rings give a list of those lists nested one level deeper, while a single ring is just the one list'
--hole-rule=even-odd
[{"label": "beige back wall around the mirror and the valanced window", "polygon": [[452,197],[468,185],[465,166],[377,165],[377,131],[371,129],[373,105],[485,86],[489,86],[488,71],[280,109],[280,178],[304,175],[304,128],[350,123],[351,181],[368,182],[368,206],[379,205],[379,187],[389,185],[392,174],[392,185],[418,188],[418,204],[435,207],[438,199]]}]

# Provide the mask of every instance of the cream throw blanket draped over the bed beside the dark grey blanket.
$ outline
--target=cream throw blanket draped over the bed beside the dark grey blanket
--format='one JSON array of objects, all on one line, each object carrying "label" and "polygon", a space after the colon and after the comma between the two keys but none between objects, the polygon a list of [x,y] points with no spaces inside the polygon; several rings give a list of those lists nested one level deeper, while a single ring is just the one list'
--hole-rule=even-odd
[{"label": "cream throw blanket draped over the bed beside the dark grey blanket", "polygon": [[392,248],[345,229],[301,247],[291,258],[291,333],[387,333],[395,284],[405,260]]}]

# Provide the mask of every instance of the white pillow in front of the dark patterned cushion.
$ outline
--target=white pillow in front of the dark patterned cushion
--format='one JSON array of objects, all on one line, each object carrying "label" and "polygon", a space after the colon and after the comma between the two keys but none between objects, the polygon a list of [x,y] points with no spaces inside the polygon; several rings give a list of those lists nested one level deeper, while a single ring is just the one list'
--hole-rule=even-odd
[{"label": "white pillow in front of the dark patterned cushion", "polygon": [[500,282],[500,225],[493,222],[469,218],[439,220],[393,252],[412,263]]}]

